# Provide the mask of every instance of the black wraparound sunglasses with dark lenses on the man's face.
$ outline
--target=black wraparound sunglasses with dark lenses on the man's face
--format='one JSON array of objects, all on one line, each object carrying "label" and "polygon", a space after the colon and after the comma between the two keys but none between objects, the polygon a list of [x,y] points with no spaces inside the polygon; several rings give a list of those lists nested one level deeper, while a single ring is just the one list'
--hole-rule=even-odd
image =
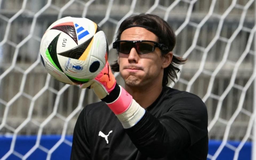
[{"label": "black wraparound sunglasses with dark lenses on the man's face", "polygon": [[116,49],[118,52],[123,54],[129,54],[132,48],[135,48],[138,54],[146,54],[153,52],[155,48],[158,47],[164,53],[167,53],[168,47],[164,44],[160,44],[154,41],[115,41],[113,43],[113,48]]}]

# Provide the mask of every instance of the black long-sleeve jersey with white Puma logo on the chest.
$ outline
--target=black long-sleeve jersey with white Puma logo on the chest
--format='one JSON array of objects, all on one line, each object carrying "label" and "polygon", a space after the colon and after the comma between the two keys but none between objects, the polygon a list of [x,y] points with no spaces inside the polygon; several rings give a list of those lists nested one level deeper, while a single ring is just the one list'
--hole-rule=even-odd
[{"label": "black long-sleeve jersey with white Puma logo on the chest", "polygon": [[166,86],[128,129],[105,102],[93,103],[77,119],[70,159],[206,159],[207,125],[206,106],[199,97]]}]

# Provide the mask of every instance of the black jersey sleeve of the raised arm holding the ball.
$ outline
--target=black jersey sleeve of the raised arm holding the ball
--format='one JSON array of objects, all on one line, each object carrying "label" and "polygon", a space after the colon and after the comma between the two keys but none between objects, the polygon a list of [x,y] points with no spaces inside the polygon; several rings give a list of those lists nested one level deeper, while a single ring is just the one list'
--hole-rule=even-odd
[{"label": "black jersey sleeve of the raised arm holding the ball", "polygon": [[125,129],[139,151],[151,158],[185,150],[208,134],[207,110],[199,97],[177,98],[166,107],[162,116],[146,111],[135,126]]}]

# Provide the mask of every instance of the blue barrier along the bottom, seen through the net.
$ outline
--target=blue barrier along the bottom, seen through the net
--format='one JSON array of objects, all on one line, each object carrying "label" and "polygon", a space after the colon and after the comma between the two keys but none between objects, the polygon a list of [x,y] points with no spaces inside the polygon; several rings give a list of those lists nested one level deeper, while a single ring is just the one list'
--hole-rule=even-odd
[{"label": "blue barrier along the bottom, seen through the net", "polygon": [[[42,135],[40,139],[40,146],[46,150],[50,150],[56,142],[60,140],[60,135]],[[72,142],[72,135],[66,136],[65,140]],[[17,136],[14,150],[21,155],[25,155],[35,144],[37,136]],[[12,137],[0,136],[0,159],[10,150]],[[209,154],[213,155],[222,141],[209,141]],[[237,147],[240,142],[238,141],[229,141],[230,145]],[[69,159],[71,153],[71,146],[65,142],[62,142],[61,145],[52,153],[51,159]],[[228,147],[224,147],[220,152],[217,160],[229,160],[233,159],[235,152]],[[46,159],[47,153],[41,149],[36,149],[27,159],[28,160],[43,160]],[[11,154],[8,160],[20,159],[14,154]],[[242,149],[239,152],[239,160],[250,160],[251,159],[251,142],[246,142]]]}]

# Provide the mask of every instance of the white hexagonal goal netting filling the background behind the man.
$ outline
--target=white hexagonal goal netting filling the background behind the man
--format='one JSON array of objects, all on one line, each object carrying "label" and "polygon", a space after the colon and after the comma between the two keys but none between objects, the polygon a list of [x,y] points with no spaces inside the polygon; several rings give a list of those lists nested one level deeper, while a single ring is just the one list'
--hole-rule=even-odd
[{"label": "white hexagonal goal netting filling the background behind the man", "polygon": [[[145,12],[159,15],[174,28],[174,54],[188,58],[174,88],[194,93],[206,103],[209,138],[222,140],[208,159],[218,158],[223,148],[233,150],[237,159],[245,142],[255,140],[255,4],[255,0],[0,0],[0,135],[12,138],[0,159],[11,155],[26,159],[37,149],[50,159],[62,143],[71,147],[65,137],[73,134],[78,114],[86,104],[99,101],[92,91],[64,85],[46,73],[39,46],[48,26],[66,16],[93,20],[107,36],[113,62],[112,42],[120,23]],[[41,137],[52,134],[61,134],[61,139],[46,149]],[[37,135],[25,154],[15,150],[18,135]],[[240,143],[235,147],[229,140]]]}]

